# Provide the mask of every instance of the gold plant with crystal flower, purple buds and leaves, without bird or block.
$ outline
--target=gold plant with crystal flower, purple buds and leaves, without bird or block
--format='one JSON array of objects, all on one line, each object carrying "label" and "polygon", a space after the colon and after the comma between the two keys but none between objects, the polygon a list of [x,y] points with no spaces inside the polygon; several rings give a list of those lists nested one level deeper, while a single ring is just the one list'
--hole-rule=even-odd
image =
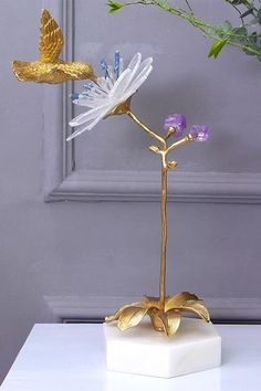
[{"label": "gold plant with crystal flower, purple buds and leaves, without bird or block", "polygon": [[[190,141],[205,141],[208,139],[208,127],[206,125],[194,125],[190,133],[180,138],[186,129],[184,115],[170,115],[165,120],[166,135],[163,136],[152,130],[130,109],[132,97],[146,81],[153,70],[153,59],[142,61],[137,53],[129,65],[123,70],[123,60],[119,53],[115,53],[114,65],[107,65],[106,61],[101,62],[104,75],[97,77],[95,83],[85,85],[85,91],[73,94],[73,103],[87,107],[86,113],[80,114],[71,120],[72,127],[80,127],[67,140],[91,130],[101,119],[112,115],[128,115],[143,130],[156,140],[149,150],[159,156],[161,162],[161,257],[160,257],[160,282],[159,297],[147,297],[139,303],[133,303],[119,308],[114,315],[107,316],[106,321],[118,320],[121,330],[126,330],[140,323],[143,317],[149,315],[156,330],[173,336],[179,325],[181,315],[186,311],[195,313],[206,321],[209,321],[209,313],[196,295],[188,292],[175,296],[166,296],[166,250],[167,250],[167,178],[168,171],[175,170],[177,162],[169,160],[169,154],[178,147]],[[170,142],[171,138],[179,138]]]}]

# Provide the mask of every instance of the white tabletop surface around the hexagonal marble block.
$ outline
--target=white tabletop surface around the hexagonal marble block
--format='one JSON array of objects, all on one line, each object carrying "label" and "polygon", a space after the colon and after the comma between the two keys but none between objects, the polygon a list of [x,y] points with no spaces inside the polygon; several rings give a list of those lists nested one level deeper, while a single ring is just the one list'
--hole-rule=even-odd
[{"label": "white tabletop surface around the hexagonal marble block", "polygon": [[173,379],[106,372],[102,325],[35,325],[1,391],[260,391],[261,326],[217,326],[222,367]]}]

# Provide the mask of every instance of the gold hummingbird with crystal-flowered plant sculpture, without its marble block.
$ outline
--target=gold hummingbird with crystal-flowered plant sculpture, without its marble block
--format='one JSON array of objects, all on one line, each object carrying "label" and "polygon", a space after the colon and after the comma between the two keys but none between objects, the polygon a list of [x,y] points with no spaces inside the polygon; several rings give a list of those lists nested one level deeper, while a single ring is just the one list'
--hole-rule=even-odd
[{"label": "gold hummingbird with crystal-flowered plant sculpture, without its marble block", "polygon": [[[184,115],[174,114],[166,118],[165,135],[150,129],[132,110],[130,104],[134,94],[147,80],[153,70],[153,59],[144,61],[137,53],[128,66],[124,68],[123,59],[119,52],[115,53],[114,64],[107,65],[106,61],[101,62],[103,75],[96,77],[88,63],[64,63],[59,60],[63,45],[63,38],[56,22],[48,11],[42,12],[42,28],[40,39],[41,60],[35,63],[13,63],[13,71],[19,80],[34,81],[40,83],[62,83],[70,78],[90,78],[92,82],[84,85],[80,94],[72,94],[73,103],[87,110],[72,119],[70,125],[77,129],[67,137],[67,140],[75,138],[85,130],[91,130],[100,120],[113,115],[127,115],[144,131],[146,131],[156,144],[149,150],[160,158],[161,165],[161,256],[159,297],[145,296],[142,302],[125,305],[114,315],[107,316],[106,321],[117,320],[118,328],[126,330],[138,325],[144,316],[149,315],[153,326],[158,331],[168,336],[175,335],[181,315],[186,311],[194,313],[206,321],[209,321],[209,313],[205,303],[196,295],[188,292],[175,296],[166,296],[166,250],[167,250],[167,179],[168,172],[175,170],[177,162],[169,160],[169,154],[180,146],[190,141],[205,141],[208,139],[208,126],[194,125],[190,131],[184,136],[186,130],[186,118]],[[25,65],[22,65],[25,64]],[[79,71],[79,73],[76,72]],[[178,138],[176,141],[171,139]]]}]

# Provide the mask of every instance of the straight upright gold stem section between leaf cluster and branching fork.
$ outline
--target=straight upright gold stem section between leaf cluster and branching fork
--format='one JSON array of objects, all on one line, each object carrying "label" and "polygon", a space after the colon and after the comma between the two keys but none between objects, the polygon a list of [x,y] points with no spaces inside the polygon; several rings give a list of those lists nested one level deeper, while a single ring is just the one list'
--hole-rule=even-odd
[{"label": "straight upright gold stem section between leaf cluster and branching fork", "polygon": [[165,165],[164,157],[161,159],[161,252],[160,252],[160,277],[159,277],[159,305],[164,310],[166,299],[166,260],[167,260],[167,183],[168,169]]}]

